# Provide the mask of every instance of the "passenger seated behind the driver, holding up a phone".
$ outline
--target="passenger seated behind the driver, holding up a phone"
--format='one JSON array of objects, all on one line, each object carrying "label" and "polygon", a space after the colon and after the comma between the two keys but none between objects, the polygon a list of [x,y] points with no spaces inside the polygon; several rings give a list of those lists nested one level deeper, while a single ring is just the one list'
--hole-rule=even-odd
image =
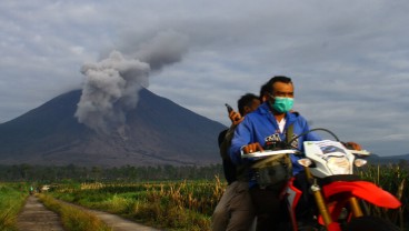
[{"label": "passenger seated behind the driver, holding up a phone", "polygon": [[213,231],[248,231],[253,223],[255,211],[248,183],[243,180],[238,181],[242,174],[246,174],[245,168],[240,164],[233,164],[228,151],[236,127],[243,120],[245,116],[255,111],[259,104],[260,100],[255,94],[242,96],[238,101],[239,112],[233,110],[229,112],[231,127],[219,134],[220,154],[228,187],[212,214]]}]

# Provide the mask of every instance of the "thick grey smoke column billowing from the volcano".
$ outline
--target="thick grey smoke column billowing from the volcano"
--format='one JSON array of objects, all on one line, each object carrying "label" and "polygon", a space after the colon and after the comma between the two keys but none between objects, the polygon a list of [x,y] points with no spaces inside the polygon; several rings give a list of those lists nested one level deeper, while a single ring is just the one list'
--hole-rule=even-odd
[{"label": "thick grey smoke column billowing from the volcano", "polygon": [[127,112],[137,107],[150,73],[180,61],[187,43],[187,37],[164,31],[141,44],[131,59],[112,51],[100,62],[83,64],[86,81],[74,117],[98,133],[123,132]]}]

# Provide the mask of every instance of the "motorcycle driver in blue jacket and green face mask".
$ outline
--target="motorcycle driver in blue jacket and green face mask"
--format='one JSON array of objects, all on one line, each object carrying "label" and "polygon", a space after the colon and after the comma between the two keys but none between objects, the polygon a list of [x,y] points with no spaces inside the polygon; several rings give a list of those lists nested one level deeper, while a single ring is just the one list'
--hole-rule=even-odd
[{"label": "motorcycle driver in blue jacket and green face mask", "polygon": [[[248,114],[245,120],[237,127],[230,147],[230,158],[235,164],[242,164],[248,161],[251,165],[251,160],[242,160],[243,153],[263,151],[267,143],[279,143],[291,140],[292,138],[309,131],[307,120],[299,113],[291,111],[295,98],[295,87],[288,77],[278,76],[271,78],[265,88],[267,101],[263,102],[253,113]],[[291,132],[289,128],[291,127]],[[290,139],[287,134],[290,133]],[[312,133],[306,133],[291,145],[302,150],[303,141],[320,140]],[[297,162],[297,157],[291,155],[293,174],[302,171],[301,165]],[[247,179],[252,194],[253,203],[257,210],[257,230],[278,230],[280,215],[279,192],[280,189],[262,188],[258,184],[255,172],[248,168]]]}]

